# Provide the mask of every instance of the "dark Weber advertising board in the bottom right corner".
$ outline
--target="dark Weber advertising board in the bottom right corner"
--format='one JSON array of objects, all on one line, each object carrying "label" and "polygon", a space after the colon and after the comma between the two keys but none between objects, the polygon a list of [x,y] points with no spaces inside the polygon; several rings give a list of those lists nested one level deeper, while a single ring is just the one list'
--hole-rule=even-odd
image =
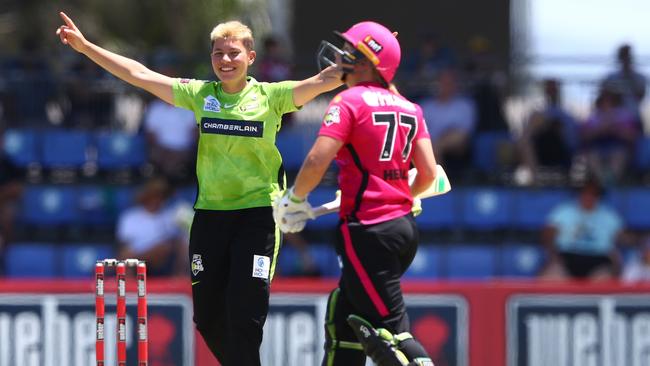
[{"label": "dark Weber advertising board in the bottom right corner", "polygon": [[515,296],[508,302],[507,326],[508,366],[650,361],[650,296]]}]

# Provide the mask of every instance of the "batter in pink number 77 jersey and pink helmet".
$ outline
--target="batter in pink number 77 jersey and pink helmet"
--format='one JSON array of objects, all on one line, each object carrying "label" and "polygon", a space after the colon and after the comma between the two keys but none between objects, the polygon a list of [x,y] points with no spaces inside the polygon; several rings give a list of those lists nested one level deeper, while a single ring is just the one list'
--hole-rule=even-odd
[{"label": "batter in pink number 77 jersey and pink helmet", "polygon": [[[409,333],[400,286],[418,246],[413,197],[435,178],[431,140],[420,107],[390,84],[401,55],[396,34],[374,22],[337,34],[343,47],[324,42],[319,57],[332,64],[329,52],[349,65],[348,89],[330,103],[295,185],[275,205],[275,218],[286,232],[302,230],[311,212],[307,196],[336,159],[336,250],[343,268],[329,296],[323,365],[363,366],[366,355],[379,366],[433,365]],[[411,163],[418,174],[409,186]]]}]

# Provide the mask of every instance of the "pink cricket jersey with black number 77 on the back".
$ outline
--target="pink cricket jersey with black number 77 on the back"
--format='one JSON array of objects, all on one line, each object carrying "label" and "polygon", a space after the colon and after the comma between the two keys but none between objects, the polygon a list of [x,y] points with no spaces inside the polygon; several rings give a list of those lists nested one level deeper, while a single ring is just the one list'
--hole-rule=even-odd
[{"label": "pink cricket jersey with black number 77 on the back", "polygon": [[341,217],[367,225],[411,211],[412,147],[429,138],[417,104],[379,84],[361,83],[334,97],[318,134],[345,144],[336,156]]}]

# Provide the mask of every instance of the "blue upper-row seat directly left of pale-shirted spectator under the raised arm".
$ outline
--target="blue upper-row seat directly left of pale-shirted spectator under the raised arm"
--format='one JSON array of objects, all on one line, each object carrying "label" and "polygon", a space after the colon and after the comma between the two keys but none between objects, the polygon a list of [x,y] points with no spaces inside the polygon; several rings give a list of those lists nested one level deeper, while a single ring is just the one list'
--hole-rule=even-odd
[{"label": "blue upper-row seat directly left of pale-shirted spectator under the raised arm", "polygon": [[102,132],[95,136],[99,169],[137,168],[147,161],[144,137],[121,132]]}]

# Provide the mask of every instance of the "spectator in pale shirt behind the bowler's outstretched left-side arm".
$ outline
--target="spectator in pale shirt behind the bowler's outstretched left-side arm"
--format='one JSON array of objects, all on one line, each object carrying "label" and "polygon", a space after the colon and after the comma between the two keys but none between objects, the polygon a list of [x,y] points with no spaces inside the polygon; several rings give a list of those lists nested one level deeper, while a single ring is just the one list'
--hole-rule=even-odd
[{"label": "spectator in pale shirt behind the bowler's outstretched left-side arm", "polygon": [[[156,71],[177,77],[175,56],[159,53],[154,57]],[[149,162],[157,174],[173,185],[194,176],[196,142],[199,129],[190,110],[152,98],[144,114],[144,131],[149,147]]]}]

